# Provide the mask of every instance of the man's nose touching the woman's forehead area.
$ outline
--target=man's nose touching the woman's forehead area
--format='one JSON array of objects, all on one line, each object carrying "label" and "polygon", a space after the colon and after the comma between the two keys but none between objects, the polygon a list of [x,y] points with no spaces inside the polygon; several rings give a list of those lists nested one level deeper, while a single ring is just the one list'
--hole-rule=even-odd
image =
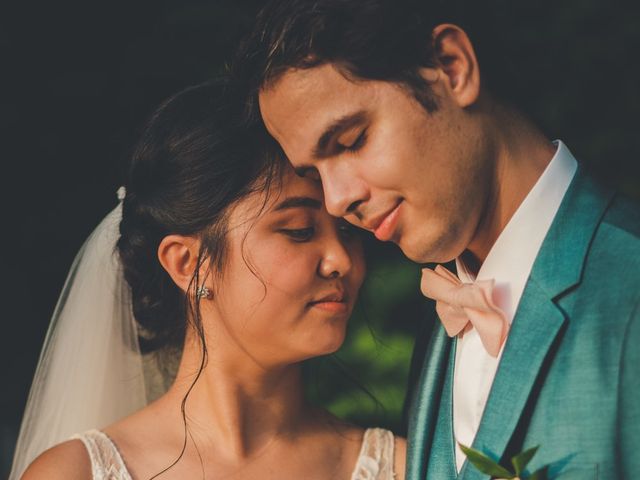
[{"label": "man's nose touching the woman's forehead area", "polygon": [[334,217],[356,216],[361,220],[360,206],[369,199],[367,184],[345,169],[320,172],[327,211]]}]

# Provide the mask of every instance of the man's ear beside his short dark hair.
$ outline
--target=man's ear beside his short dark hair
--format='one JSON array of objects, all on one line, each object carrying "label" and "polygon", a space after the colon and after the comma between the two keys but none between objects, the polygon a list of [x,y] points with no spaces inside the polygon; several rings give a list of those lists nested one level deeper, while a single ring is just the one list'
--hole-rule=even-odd
[{"label": "man's ear beside his short dark hair", "polygon": [[460,27],[443,24],[433,29],[431,39],[447,90],[459,106],[472,105],[480,95],[480,69],[469,37]]}]

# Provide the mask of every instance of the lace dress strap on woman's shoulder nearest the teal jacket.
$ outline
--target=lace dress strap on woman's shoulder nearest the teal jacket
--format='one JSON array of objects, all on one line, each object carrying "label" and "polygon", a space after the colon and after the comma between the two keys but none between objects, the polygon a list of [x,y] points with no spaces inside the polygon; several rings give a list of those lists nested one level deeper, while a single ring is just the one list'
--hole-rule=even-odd
[{"label": "lace dress strap on woman's shoulder nearest the teal jacket", "polygon": [[394,447],[392,432],[382,428],[367,429],[351,480],[393,480]]}]

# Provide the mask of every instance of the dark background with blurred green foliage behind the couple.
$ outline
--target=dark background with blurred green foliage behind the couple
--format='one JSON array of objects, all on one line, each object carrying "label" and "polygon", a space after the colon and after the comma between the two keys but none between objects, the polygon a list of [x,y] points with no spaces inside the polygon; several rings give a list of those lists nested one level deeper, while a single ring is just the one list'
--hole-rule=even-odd
[{"label": "dark background with blurred green foliage behind the couple", "polygon": [[[66,272],[114,206],[138,128],[162,99],[223,70],[261,3],[3,5],[0,475]],[[564,140],[603,182],[640,198],[640,3],[457,3],[494,91]],[[309,365],[309,389],[345,418],[398,429],[424,321],[419,269],[395,247],[367,243],[369,279],[338,354],[357,382],[323,359]]]}]

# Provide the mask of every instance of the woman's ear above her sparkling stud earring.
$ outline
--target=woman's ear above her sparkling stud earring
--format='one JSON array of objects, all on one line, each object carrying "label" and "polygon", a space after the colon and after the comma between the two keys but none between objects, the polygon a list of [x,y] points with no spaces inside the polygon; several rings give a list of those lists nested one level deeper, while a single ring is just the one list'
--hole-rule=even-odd
[{"label": "woman's ear above her sparkling stud earring", "polygon": [[167,235],[158,246],[158,260],[183,292],[198,266],[200,240],[185,235]]}]

